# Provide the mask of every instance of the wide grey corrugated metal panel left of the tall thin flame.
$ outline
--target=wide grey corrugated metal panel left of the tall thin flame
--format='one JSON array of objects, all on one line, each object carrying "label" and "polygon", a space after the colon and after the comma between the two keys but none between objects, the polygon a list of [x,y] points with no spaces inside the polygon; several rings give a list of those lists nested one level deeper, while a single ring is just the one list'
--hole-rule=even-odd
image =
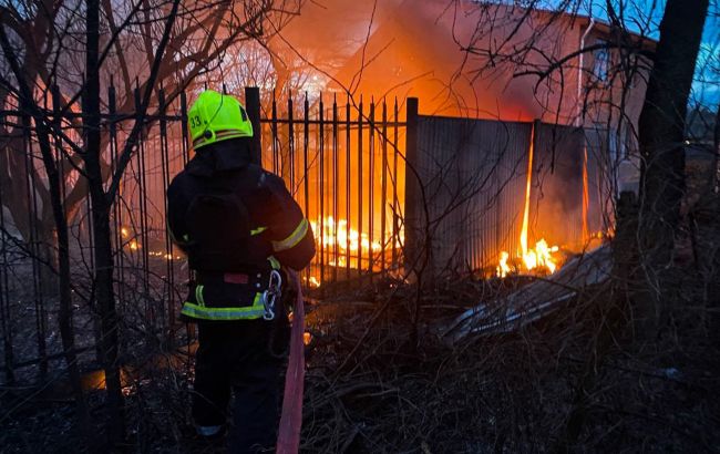
[{"label": "wide grey corrugated metal panel left of the tall thin flame", "polygon": [[517,249],[531,131],[528,123],[419,117],[415,167],[435,272],[476,270]]}]

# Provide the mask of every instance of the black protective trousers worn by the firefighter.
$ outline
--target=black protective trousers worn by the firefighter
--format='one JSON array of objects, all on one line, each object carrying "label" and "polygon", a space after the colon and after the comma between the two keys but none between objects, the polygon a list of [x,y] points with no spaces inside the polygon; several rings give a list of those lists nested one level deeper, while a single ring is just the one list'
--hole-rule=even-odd
[{"label": "black protective trousers worn by the firefighter", "polygon": [[287,317],[198,323],[193,419],[226,424],[234,394],[228,452],[275,451],[288,339]]}]

